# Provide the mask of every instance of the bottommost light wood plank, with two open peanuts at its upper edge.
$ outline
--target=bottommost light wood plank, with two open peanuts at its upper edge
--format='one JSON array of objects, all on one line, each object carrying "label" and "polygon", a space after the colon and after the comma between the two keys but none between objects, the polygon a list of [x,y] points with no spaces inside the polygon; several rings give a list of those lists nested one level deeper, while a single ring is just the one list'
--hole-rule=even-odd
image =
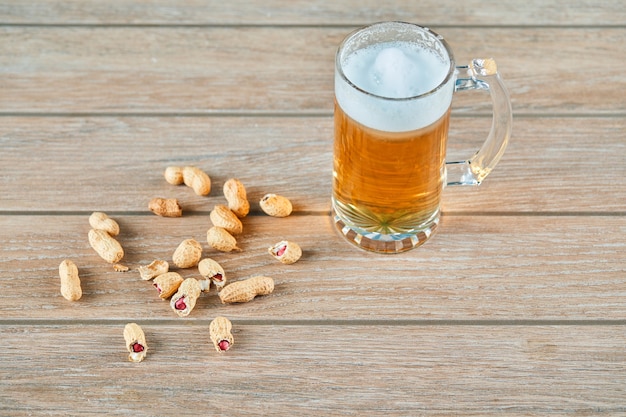
[{"label": "bottommost light wood plank, with two open peanuts at its upper edge", "polygon": [[[624,326],[250,326],[218,355],[208,322],[1,327],[4,415],[615,416]],[[157,411],[158,410],[158,411]]]}]

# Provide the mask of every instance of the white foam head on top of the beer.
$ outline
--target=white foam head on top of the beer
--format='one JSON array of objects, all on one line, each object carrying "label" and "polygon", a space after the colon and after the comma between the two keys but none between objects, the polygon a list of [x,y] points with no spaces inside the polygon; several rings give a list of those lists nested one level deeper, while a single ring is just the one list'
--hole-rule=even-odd
[{"label": "white foam head on top of the beer", "polygon": [[375,44],[338,59],[345,78],[336,69],[337,102],[365,126],[415,130],[436,122],[450,107],[455,77],[446,77],[451,63],[418,43]]}]

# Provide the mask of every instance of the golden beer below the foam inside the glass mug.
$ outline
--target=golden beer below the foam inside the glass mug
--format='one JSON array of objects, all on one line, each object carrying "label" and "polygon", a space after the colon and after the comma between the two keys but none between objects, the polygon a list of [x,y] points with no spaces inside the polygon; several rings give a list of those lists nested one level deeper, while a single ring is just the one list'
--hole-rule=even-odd
[{"label": "golden beer below the foam inside the glass mug", "polygon": [[333,204],[361,233],[417,233],[439,214],[450,112],[409,132],[368,128],[335,102]]}]

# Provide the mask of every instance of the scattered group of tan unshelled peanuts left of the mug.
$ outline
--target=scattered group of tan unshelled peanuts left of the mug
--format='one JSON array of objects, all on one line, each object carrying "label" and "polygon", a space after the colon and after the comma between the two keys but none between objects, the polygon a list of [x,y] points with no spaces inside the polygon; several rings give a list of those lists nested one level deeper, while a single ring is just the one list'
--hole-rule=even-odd
[{"label": "scattered group of tan unshelled peanuts left of the mug", "polygon": [[[211,179],[197,167],[168,167],[164,173],[168,183],[185,184],[200,196],[211,191]],[[250,211],[244,185],[235,178],[224,183],[224,197],[228,204],[217,204],[210,213],[213,224],[207,231],[207,243],[220,252],[241,251],[235,236],[243,232],[241,219]],[[292,212],[292,204],[286,197],[266,194],[259,206],[263,212],[273,217],[287,217]],[[148,208],[163,217],[181,217],[183,210],[177,199],[153,198]],[[117,222],[106,213],[94,212],[89,217],[91,230],[88,238],[94,251],[106,262],[113,264],[118,272],[126,272],[128,267],[119,262],[124,257],[124,249],[116,240],[120,233]],[[173,264],[181,269],[196,268],[201,278],[184,279],[179,273],[170,271],[166,260],[156,259],[149,265],[137,268],[142,280],[152,281],[159,298],[169,299],[169,305],[178,317],[188,316],[202,293],[214,285],[222,303],[245,303],[257,296],[274,291],[274,280],[267,276],[254,276],[245,280],[228,282],[224,268],[211,258],[202,258],[202,245],[195,239],[185,239],[172,254]],[[268,248],[268,253],[283,264],[293,264],[302,256],[300,246],[292,241],[282,240]],[[82,296],[78,268],[69,259],[59,265],[61,294],[70,301]],[[216,317],[209,326],[211,341],[218,352],[229,350],[234,344],[232,324],[226,317]],[[129,352],[129,360],[141,362],[148,350],[143,330],[136,323],[128,323],[124,328],[124,339]]]}]

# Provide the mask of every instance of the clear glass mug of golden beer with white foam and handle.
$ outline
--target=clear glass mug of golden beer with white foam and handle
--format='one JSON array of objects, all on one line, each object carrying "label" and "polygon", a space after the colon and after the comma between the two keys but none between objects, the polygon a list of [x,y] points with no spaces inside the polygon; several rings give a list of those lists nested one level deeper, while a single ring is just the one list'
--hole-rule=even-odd
[{"label": "clear glass mug of golden beer with white foam and handle", "polygon": [[[474,156],[446,162],[452,95],[472,89],[490,92],[491,131]],[[480,184],[502,156],[511,122],[492,59],[457,67],[443,37],[411,23],[351,33],[335,60],[335,225],[374,252],[421,245],[439,224],[444,186]]]}]

